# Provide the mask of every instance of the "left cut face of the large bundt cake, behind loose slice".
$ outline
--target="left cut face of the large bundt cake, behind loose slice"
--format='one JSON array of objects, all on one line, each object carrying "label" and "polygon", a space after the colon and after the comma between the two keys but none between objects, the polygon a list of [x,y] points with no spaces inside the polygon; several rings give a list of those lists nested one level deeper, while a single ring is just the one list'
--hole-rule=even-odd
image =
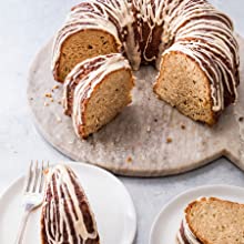
[{"label": "left cut face of the large bundt cake, behind loose slice", "polygon": [[82,29],[62,41],[58,39],[53,47],[52,58],[54,80],[63,83],[67,75],[80,62],[98,55],[116,53],[120,50],[121,42],[105,30]]}]

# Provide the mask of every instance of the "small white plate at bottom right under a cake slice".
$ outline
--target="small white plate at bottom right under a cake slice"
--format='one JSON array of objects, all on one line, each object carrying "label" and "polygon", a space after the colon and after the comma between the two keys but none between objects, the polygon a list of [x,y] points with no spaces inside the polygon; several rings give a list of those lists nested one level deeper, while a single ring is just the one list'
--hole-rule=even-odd
[{"label": "small white plate at bottom right under a cake slice", "polygon": [[201,196],[216,196],[244,203],[244,189],[231,185],[209,185],[176,196],[156,216],[150,234],[150,244],[175,244],[184,209],[190,202]]}]

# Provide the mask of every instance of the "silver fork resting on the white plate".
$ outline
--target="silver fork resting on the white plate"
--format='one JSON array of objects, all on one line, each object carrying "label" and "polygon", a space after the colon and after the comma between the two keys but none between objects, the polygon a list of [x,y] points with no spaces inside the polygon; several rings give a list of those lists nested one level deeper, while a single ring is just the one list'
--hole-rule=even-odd
[{"label": "silver fork resting on the white plate", "polygon": [[[47,163],[49,166],[49,162]],[[44,189],[44,162],[31,161],[23,187],[23,216],[19,226],[16,244],[23,243],[23,235],[30,213],[41,205]]]}]

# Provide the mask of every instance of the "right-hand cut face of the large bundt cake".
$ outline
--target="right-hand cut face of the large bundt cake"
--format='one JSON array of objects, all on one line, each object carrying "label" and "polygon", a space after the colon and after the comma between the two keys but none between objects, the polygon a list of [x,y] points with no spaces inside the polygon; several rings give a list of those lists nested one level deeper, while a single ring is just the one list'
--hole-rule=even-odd
[{"label": "right-hand cut face of the large bundt cake", "polygon": [[153,91],[194,121],[209,125],[217,122],[220,113],[213,111],[210,81],[185,53],[171,51],[163,55]]}]

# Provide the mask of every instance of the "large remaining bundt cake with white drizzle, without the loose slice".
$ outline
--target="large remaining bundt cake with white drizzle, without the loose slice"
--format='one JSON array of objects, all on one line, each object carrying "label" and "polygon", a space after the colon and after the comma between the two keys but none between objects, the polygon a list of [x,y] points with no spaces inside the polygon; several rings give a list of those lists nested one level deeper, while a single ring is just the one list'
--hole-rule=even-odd
[{"label": "large remaining bundt cake with white drizzle, without the loose slice", "polygon": [[53,48],[54,79],[80,62],[122,53],[133,70],[159,70],[154,92],[210,125],[237,96],[238,47],[227,16],[207,0],[84,0],[74,7]]}]

